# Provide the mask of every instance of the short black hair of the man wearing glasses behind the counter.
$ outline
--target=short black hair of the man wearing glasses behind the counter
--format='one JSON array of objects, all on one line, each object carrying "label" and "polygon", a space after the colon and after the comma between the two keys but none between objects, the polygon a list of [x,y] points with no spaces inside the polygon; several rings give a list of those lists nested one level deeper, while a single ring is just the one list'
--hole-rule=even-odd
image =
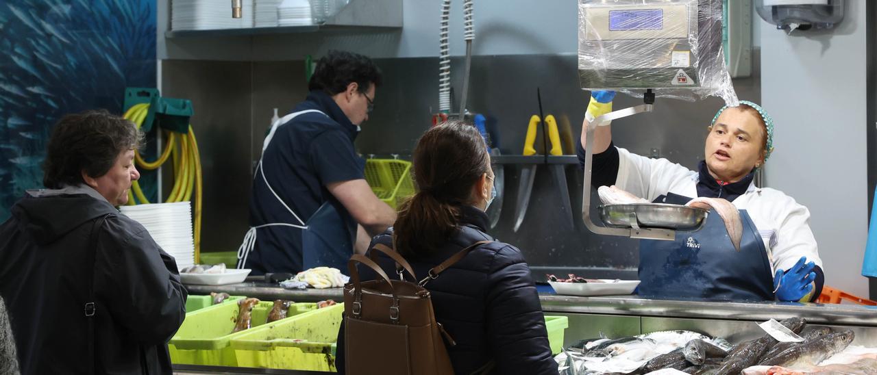
[{"label": "short black hair of the man wearing glasses behind the counter", "polygon": [[344,92],[351,82],[356,82],[360,86],[357,90],[365,94],[369,83],[378,88],[381,86],[381,80],[381,69],[366,56],[346,51],[329,51],[323,58],[317,60],[317,67],[314,69],[314,74],[310,76],[308,89],[323,90],[326,94],[334,96]]}]

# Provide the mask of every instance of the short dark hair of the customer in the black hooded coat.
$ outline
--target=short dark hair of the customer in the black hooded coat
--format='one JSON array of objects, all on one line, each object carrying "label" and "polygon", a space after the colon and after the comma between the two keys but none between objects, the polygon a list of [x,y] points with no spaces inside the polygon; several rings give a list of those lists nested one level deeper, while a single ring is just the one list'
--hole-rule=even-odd
[{"label": "short dark hair of the customer in the black hooded coat", "polygon": [[46,146],[43,185],[78,185],[82,171],[100,177],[110,171],[121,152],[138,149],[143,133],[125,118],[106,110],[89,110],[61,117]]}]

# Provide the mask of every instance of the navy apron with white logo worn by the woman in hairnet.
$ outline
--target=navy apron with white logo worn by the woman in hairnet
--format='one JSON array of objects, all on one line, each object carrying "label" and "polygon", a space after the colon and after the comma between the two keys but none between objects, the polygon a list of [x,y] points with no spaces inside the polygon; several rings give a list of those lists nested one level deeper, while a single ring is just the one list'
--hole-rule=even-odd
[{"label": "navy apron with white logo worn by the woman in hairnet", "polygon": [[[655,202],[690,198],[661,195]],[[709,210],[699,230],[677,231],[674,241],[640,240],[638,294],[659,299],[774,301],[774,275],[752,218],[740,210],[743,238],[734,249],[724,221]]]}]

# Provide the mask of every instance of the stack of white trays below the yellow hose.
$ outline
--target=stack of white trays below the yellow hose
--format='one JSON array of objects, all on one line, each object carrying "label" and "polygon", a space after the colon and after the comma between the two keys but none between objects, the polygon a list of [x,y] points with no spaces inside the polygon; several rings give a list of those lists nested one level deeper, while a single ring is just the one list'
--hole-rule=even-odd
[{"label": "stack of white trays below the yellow hose", "polygon": [[176,266],[180,270],[195,264],[189,202],[121,206],[119,211],[143,225],[155,243],[176,259]]}]

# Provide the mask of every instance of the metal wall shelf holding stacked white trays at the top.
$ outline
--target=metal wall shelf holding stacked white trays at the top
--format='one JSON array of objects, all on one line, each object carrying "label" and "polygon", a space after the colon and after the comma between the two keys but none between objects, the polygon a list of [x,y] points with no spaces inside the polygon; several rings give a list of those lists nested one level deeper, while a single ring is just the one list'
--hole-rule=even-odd
[{"label": "metal wall shelf holding stacked white trays at the top", "polygon": [[165,38],[236,37],[305,32],[381,32],[401,29],[402,19],[402,0],[350,0],[350,3],[338,14],[321,25],[168,30],[165,32]]}]

